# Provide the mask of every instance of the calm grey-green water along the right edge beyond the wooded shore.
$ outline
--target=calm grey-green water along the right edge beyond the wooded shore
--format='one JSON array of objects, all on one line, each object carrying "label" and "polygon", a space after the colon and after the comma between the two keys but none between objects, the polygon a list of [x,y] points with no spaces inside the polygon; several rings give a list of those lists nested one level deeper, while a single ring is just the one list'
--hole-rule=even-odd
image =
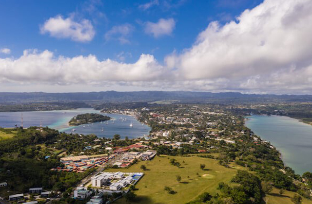
[{"label": "calm grey-green water along the right edge beyond the wooded shore", "polygon": [[248,117],[245,122],[256,135],[270,141],[286,166],[297,174],[312,172],[312,126],[283,116]]}]

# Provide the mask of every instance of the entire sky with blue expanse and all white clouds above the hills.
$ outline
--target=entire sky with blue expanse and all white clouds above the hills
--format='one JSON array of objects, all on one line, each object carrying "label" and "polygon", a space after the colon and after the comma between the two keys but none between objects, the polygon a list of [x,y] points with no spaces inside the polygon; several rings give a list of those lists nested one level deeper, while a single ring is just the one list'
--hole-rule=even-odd
[{"label": "entire sky with blue expanse and all white clouds above the hills", "polygon": [[312,0],[1,0],[0,92],[312,94]]}]

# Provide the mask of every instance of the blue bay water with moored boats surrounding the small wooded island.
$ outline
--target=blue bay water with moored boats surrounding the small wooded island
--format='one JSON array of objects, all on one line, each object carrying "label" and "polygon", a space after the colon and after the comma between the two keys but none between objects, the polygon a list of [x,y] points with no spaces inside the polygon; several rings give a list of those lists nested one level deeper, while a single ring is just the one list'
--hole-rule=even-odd
[{"label": "blue bay water with moored boats surrounding the small wooded island", "polygon": [[[98,113],[112,118],[105,122],[95,122],[83,124],[79,126],[68,126],[68,121],[74,116],[83,113]],[[0,113],[0,127],[20,126],[21,112],[4,112]],[[23,112],[23,125],[29,126],[48,126],[66,133],[77,134],[95,134],[98,137],[113,137],[115,134],[121,137],[128,136],[129,138],[141,137],[149,135],[151,128],[147,125],[142,125],[137,119],[132,116],[119,114],[104,114],[93,108],[79,108],[76,110],[59,110],[59,111],[33,111]],[[133,124],[130,127],[130,123]],[[73,131],[75,129],[75,131]]]}]

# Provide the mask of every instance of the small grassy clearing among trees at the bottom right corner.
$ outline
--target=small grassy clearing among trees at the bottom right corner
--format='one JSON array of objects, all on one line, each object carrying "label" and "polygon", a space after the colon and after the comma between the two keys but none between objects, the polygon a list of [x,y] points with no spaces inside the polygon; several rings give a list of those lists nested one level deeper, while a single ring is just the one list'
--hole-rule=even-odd
[{"label": "small grassy clearing among trees at the bottom right corner", "polygon": [[[293,204],[291,198],[295,193],[285,190],[283,195],[279,194],[279,189],[273,188],[273,191],[266,196],[268,198],[268,204]],[[302,197],[302,204],[312,204],[312,201]]]}]

